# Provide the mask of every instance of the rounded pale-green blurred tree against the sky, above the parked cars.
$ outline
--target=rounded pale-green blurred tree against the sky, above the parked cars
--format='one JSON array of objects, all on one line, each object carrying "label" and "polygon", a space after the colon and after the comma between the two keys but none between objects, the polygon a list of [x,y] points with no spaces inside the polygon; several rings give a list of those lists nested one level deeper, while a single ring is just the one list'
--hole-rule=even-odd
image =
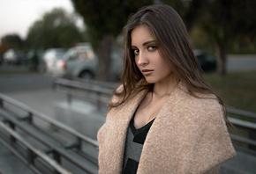
[{"label": "rounded pale-green blurred tree against the sky, above the parked cars", "polygon": [[56,8],[44,14],[29,28],[26,44],[29,48],[72,47],[83,41],[79,28],[72,16],[63,9]]}]

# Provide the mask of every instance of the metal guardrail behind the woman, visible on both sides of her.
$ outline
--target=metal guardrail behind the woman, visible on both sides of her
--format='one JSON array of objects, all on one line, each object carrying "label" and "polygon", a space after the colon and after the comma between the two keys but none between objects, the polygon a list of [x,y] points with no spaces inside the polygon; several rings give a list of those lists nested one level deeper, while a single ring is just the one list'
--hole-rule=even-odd
[{"label": "metal guardrail behind the woman, visible on both sides of her", "polygon": [[[83,99],[89,99],[92,101],[96,101],[98,104],[98,108],[100,109],[102,106],[105,106],[109,99],[111,98],[113,94],[113,90],[117,88],[119,84],[118,83],[103,83],[103,82],[97,82],[97,81],[78,81],[77,80],[67,80],[63,78],[56,79],[56,82],[54,83],[54,89],[57,91],[61,91],[67,94],[68,100],[76,97],[79,98],[83,94],[91,94],[94,93],[94,98],[83,98]],[[79,92],[78,92],[79,91]],[[77,93],[78,92],[78,93]],[[102,99],[102,96],[105,96],[106,98]],[[106,102],[107,101],[107,102]],[[247,112],[238,110],[235,108],[227,108],[228,112],[228,118],[230,122],[235,125],[236,127],[244,127],[250,131],[250,134],[256,134],[256,113],[253,112]],[[238,115],[243,118],[247,118],[247,120],[241,120],[234,117],[231,117],[230,115]],[[250,120],[250,121],[249,121]],[[256,137],[243,137],[242,135],[238,134],[231,134],[230,137],[234,141],[240,141],[242,143],[246,143],[250,146],[255,147],[256,149]]]}]

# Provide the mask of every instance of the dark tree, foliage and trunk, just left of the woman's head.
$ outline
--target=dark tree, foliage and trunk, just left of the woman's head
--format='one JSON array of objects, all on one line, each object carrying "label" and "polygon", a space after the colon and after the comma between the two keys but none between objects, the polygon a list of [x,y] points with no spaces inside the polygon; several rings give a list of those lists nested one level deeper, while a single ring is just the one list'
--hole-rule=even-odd
[{"label": "dark tree, foliage and trunk, just left of the woman's head", "polygon": [[153,3],[154,0],[72,0],[75,10],[84,18],[88,39],[99,57],[98,80],[108,80],[110,49],[131,13]]}]

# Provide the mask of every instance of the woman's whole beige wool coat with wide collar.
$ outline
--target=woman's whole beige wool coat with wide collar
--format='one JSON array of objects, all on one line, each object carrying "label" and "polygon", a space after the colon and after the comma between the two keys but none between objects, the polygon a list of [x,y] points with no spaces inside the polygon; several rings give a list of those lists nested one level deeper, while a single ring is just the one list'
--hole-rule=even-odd
[{"label": "woman's whole beige wool coat with wide collar", "polygon": [[[236,156],[222,106],[216,99],[194,98],[185,91],[177,85],[156,116],[138,174],[219,173],[220,164]],[[122,173],[127,128],[145,95],[142,91],[108,113],[98,132],[100,174]]]}]

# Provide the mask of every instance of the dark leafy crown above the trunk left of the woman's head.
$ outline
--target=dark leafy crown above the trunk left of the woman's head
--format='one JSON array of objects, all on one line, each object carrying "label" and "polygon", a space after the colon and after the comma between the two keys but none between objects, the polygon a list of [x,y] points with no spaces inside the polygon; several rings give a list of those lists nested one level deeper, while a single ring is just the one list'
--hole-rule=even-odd
[{"label": "dark leafy crown above the trunk left of the woman's head", "polygon": [[72,0],[75,10],[84,18],[88,39],[94,49],[103,36],[111,35],[116,38],[131,13],[153,3],[154,0]]}]

